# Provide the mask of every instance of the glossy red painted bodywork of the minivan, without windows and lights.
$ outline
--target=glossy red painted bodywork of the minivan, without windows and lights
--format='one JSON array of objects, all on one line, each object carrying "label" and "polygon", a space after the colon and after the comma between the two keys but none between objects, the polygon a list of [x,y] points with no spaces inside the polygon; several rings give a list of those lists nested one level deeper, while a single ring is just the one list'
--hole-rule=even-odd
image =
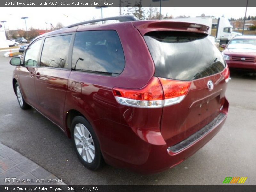
[{"label": "glossy red painted bodywork of the minivan, without windows and lights", "polygon": [[[116,167],[153,173],[173,167],[204,146],[222,127],[226,116],[185,149],[173,153],[168,147],[185,140],[211,122],[219,113],[228,113],[225,98],[228,68],[224,72],[189,83],[184,100],[159,108],[138,108],[118,103],[113,88],[138,90],[155,73],[154,61],[143,36],[152,31],[206,33],[207,27],[169,21],[136,21],[61,29],[38,38],[89,30],[115,30],[120,38],[125,68],[118,76],[104,76],[75,70],[18,66],[18,81],[25,101],[58,125],[70,137],[74,111],[92,125],[104,160]],[[72,46],[72,45],[71,45]],[[184,55],[185,56],[185,55]],[[70,60],[68,61],[70,62]],[[209,90],[211,80],[214,89]],[[161,85],[161,84],[160,84]],[[161,85],[163,86],[163,84]]]}]

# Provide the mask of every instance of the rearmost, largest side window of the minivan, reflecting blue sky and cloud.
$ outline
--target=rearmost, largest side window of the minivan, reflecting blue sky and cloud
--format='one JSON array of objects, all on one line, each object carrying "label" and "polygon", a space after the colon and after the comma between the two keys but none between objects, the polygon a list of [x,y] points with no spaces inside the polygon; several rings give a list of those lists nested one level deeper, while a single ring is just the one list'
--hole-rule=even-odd
[{"label": "rearmost, largest side window of the minivan, reflecting blue sky and cloud", "polygon": [[103,74],[120,74],[124,65],[124,52],[116,31],[76,33],[72,69]]}]

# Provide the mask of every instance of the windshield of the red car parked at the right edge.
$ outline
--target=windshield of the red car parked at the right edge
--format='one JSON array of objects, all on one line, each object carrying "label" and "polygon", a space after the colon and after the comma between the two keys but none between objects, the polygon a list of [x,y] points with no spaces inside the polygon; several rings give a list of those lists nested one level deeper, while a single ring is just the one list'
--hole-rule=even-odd
[{"label": "windshield of the red car parked at the right edge", "polygon": [[256,49],[255,39],[232,39],[228,44],[228,49]]}]

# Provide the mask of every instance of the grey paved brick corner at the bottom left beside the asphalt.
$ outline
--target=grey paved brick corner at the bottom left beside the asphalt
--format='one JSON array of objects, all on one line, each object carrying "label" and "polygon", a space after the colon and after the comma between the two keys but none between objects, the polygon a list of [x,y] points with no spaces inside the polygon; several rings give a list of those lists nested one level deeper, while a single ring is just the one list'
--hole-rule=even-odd
[{"label": "grey paved brick corner at the bottom left beside the asphalt", "polygon": [[0,142],[0,185],[67,184],[40,165]]}]

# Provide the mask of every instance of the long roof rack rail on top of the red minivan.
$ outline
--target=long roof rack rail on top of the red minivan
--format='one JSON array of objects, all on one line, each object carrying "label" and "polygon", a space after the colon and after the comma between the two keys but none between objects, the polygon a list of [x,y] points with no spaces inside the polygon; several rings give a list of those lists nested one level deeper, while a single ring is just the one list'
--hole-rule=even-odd
[{"label": "long roof rack rail on top of the red minivan", "polygon": [[108,21],[108,20],[118,20],[119,22],[126,22],[126,21],[138,21],[138,19],[136,17],[134,17],[133,15],[121,15],[121,16],[116,16],[116,17],[107,17],[107,18],[102,18],[102,19],[95,19],[95,20],[90,20],[90,21],[84,21],[81,23],[75,23],[72,25],[68,25],[64,28],[70,28],[70,27],[75,27],[78,25],[84,25],[84,24],[89,24],[89,23],[96,23],[96,22],[100,22],[100,21]]}]

